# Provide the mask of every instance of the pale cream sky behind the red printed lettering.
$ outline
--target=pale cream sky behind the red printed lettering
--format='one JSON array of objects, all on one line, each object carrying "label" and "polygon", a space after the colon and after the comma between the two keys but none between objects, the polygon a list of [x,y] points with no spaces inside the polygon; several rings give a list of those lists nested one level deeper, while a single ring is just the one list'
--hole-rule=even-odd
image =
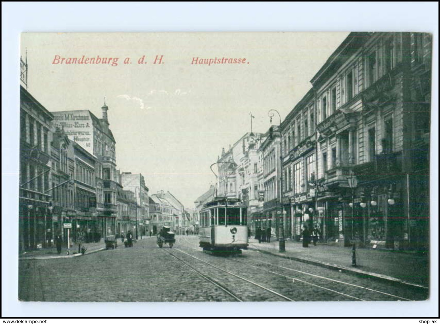
[{"label": "pale cream sky behind the red printed lettering", "polygon": [[[284,119],[347,35],[22,33],[20,51],[34,98],[49,111],[88,109],[99,118],[105,98],[117,168],[142,173],[150,194],[170,191],[192,208],[216,182],[209,166],[222,148],[251,130],[250,113],[254,132],[268,130],[270,109]],[[83,55],[112,60],[66,64]]]}]

